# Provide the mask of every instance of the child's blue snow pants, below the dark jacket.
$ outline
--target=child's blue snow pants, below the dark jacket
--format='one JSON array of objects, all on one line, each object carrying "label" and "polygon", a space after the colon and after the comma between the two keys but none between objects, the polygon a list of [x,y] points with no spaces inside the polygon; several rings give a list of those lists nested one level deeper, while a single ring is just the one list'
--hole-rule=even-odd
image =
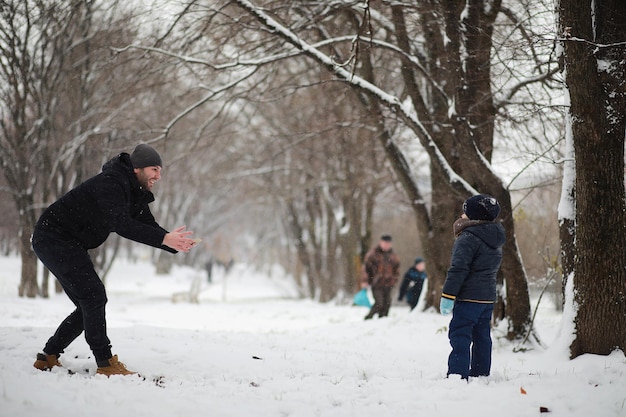
[{"label": "child's blue snow pants, below the dark jacket", "polygon": [[448,375],[487,376],[491,371],[491,314],[493,304],[456,301],[448,337],[452,352]]}]

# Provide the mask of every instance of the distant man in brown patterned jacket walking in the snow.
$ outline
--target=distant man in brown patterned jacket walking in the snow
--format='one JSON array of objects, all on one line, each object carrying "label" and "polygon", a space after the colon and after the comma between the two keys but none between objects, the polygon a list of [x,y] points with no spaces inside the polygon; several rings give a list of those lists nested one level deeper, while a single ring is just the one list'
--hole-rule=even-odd
[{"label": "distant man in brown patterned jacket walking in the snow", "polygon": [[398,282],[400,276],[400,260],[393,252],[391,236],[380,237],[378,245],[372,248],[363,260],[361,275],[361,287],[372,288],[374,305],[370,309],[365,320],[369,320],[378,314],[378,317],[386,317],[391,307],[391,290]]}]

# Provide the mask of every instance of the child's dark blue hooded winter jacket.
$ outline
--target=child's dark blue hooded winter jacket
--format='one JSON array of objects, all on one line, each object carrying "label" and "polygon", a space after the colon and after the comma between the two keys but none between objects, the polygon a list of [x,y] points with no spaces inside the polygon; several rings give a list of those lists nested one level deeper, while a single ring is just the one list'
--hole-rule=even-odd
[{"label": "child's dark blue hooded winter jacket", "polygon": [[504,227],[500,223],[459,219],[450,268],[443,285],[444,298],[492,303],[496,275],[502,262]]}]

